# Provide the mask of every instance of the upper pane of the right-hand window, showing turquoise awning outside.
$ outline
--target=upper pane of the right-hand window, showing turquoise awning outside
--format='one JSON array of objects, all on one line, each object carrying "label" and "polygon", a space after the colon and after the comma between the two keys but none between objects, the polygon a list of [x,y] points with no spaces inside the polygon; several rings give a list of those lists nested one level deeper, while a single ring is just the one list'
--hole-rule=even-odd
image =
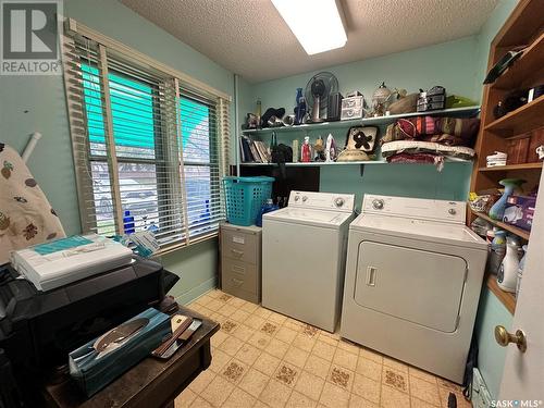
[{"label": "upper pane of the right-hand window, showing turquoise awning outside", "polygon": [[210,163],[210,108],[181,98],[183,159],[189,163]]}]

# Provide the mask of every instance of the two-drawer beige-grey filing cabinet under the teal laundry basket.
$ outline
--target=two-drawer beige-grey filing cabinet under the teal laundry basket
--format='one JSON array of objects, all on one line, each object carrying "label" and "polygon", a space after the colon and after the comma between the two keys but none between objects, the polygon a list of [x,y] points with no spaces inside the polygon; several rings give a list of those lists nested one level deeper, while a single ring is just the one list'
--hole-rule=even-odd
[{"label": "two-drawer beige-grey filing cabinet under the teal laundry basket", "polygon": [[221,224],[221,287],[259,304],[261,300],[261,228]]}]

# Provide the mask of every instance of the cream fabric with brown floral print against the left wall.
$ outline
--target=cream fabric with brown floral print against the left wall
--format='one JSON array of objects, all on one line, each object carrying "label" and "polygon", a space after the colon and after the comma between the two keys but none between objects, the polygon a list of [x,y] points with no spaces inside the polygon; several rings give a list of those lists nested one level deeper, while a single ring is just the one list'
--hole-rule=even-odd
[{"label": "cream fabric with brown floral print against the left wall", "polygon": [[65,236],[21,156],[0,143],[0,264],[9,261],[14,249]]}]

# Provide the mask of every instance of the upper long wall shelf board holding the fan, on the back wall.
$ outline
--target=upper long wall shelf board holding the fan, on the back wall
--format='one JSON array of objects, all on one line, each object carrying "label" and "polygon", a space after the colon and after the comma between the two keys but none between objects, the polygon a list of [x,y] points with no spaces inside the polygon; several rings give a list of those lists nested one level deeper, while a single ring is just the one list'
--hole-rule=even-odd
[{"label": "upper long wall shelf board holding the fan, on the back wall", "polygon": [[450,115],[477,115],[480,113],[480,107],[466,107],[466,108],[452,108],[444,109],[440,111],[431,112],[411,112],[401,114],[392,114],[388,116],[378,116],[378,118],[363,118],[355,119],[350,121],[337,121],[337,122],[321,122],[321,123],[310,123],[298,126],[280,126],[280,127],[264,127],[260,129],[246,129],[242,131],[245,135],[255,134],[265,134],[272,132],[305,132],[305,131],[327,131],[333,128],[350,127],[358,125],[385,125],[393,123],[397,119],[404,118],[415,118],[415,116],[450,116]]}]

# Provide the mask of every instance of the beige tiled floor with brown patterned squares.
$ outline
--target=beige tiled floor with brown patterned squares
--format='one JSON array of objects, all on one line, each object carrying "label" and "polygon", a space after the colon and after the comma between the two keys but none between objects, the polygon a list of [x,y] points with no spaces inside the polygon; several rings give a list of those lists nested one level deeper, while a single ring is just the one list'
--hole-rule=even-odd
[{"label": "beige tiled floor with brown patterned squares", "polygon": [[181,407],[470,407],[460,387],[220,290],[189,307],[221,323]]}]

